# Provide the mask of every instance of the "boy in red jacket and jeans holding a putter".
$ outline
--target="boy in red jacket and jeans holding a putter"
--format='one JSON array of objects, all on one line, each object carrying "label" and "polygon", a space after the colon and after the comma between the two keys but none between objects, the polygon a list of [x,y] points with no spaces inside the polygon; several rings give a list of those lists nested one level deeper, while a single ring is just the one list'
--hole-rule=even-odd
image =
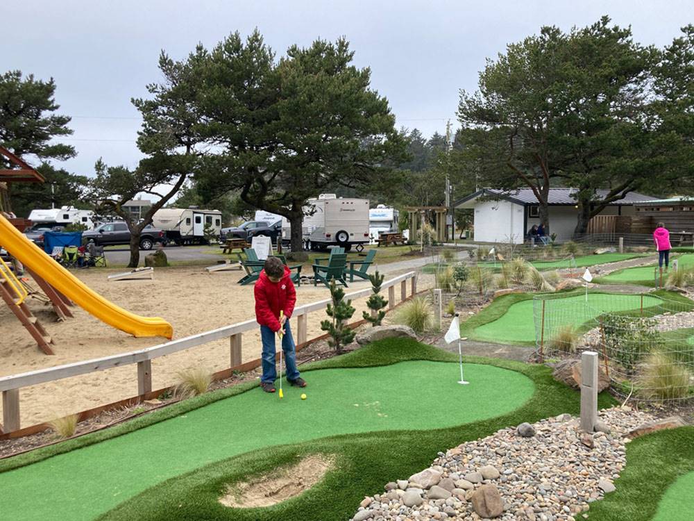
[{"label": "boy in red jacket and jeans holding a putter", "polygon": [[[291,338],[289,317],[294,313],[296,290],[290,270],[277,257],[268,257],[255,283],[255,320],[260,324],[262,339],[262,377],[260,387],[265,392],[275,392],[275,333],[283,330],[282,351],[287,365],[287,381],[292,386],[306,387],[296,368],[296,350]],[[280,318],[280,311],[284,311]]]}]

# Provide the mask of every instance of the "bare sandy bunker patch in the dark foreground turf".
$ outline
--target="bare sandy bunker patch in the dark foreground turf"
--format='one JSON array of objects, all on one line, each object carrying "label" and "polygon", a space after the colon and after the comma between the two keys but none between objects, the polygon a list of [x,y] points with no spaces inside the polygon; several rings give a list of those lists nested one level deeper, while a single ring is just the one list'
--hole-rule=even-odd
[{"label": "bare sandy bunker patch in the dark foreground turf", "polygon": [[334,466],[335,458],[332,456],[312,454],[295,465],[278,468],[272,474],[228,485],[219,502],[232,508],[272,506],[311,488]]}]

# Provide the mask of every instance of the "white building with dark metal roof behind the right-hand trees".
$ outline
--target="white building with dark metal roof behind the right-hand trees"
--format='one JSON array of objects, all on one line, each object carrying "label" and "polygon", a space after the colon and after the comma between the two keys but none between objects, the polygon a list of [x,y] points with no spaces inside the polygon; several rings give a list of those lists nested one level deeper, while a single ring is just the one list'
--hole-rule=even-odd
[{"label": "white building with dark metal roof behind the right-hand trees", "polygon": [[[578,220],[575,188],[550,188],[548,197],[550,233],[557,241],[570,240]],[[608,190],[598,190],[599,196]],[[600,215],[634,215],[634,202],[654,199],[648,195],[629,192],[627,197],[610,203]],[[539,205],[530,188],[513,191],[482,188],[456,201],[456,209],[473,208],[476,242],[514,242],[521,244],[533,224],[539,225]]]}]

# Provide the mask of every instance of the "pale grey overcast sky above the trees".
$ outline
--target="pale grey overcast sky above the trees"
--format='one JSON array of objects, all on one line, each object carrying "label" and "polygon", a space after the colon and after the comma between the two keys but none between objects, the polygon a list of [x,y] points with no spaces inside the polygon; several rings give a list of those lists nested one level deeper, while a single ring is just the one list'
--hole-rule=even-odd
[{"label": "pale grey overcast sky above the trees", "polygon": [[486,58],[543,25],[568,30],[607,14],[631,25],[636,41],[663,47],[693,13],[691,0],[5,0],[0,59],[4,70],[55,78],[60,113],[73,118],[66,141],[78,151],[62,166],[92,174],[100,156],[137,165],[139,117],[130,98],[160,81],[162,49],[183,58],[198,42],[212,47],[257,26],[280,56],[291,44],[345,35],[398,127],[431,135],[443,133],[447,119],[457,123],[459,89],[475,90]]}]

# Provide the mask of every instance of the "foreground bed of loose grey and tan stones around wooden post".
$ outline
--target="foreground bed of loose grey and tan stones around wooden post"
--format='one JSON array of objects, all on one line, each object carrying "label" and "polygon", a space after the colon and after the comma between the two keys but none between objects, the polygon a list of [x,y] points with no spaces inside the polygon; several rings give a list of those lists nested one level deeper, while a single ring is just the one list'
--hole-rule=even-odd
[{"label": "foreground bed of loose grey and tan stones around wooden post", "polygon": [[615,490],[624,436],[653,417],[625,407],[600,411],[599,419],[607,432],[582,433],[564,414],[439,452],[430,468],[364,498],[353,521],[581,519]]}]

